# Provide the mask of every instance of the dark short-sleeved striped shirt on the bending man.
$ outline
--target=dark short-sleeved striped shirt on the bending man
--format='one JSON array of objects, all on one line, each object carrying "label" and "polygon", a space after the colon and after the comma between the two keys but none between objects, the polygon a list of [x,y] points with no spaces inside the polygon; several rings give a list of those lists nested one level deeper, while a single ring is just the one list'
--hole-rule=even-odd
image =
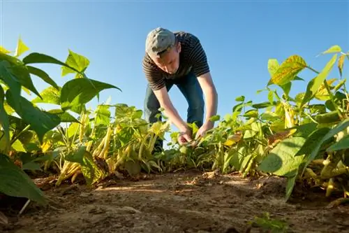
[{"label": "dark short-sleeved striped shirt on the bending man", "polygon": [[176,73],[166,73],[158,68],[147,53],[142,60],[143,71],[152,90],[165,87],[165,80],[167,79],[181,78],[190,72],[193,72],[196,77],[209,72],[209,64],[200,40],[193,34],[184,31],[175,32],[174,34],[181,43],[179,69]]}]

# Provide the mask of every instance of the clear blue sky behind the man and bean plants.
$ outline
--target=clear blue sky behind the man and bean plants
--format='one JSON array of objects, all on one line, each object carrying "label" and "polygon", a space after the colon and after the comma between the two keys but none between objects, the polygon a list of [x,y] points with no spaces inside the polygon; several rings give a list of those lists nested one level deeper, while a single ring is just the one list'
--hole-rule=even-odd
[{"label": "clear blue sky behind the man and bean plants", "polygon": [[[68,49],[86,56],[87,76],[120,87],[101,92],[101,101],[143,108],[147,81],[142,73],[144,41],[155,27],[189,31],[207,52],[218,90],[218,114],[231,113],[235,97],[265,101],[256,94],[269,80],[269,58],[282,62],[300,55],[319,71],[331,55],[316,57],[332,45],[349,50],[348,1],[0,1],[1,45],[15,50],[22,37],[31,52],[65,60]],[[27,54],[26,54],[27,55]],[[346,60],[346,63],[349,61]],[[60,67],[40,65],[63,85]],[[335,67],[336,68],[336,67]],[[339,78],[338,71],[331,78]],[[301,74],[306,81],[314,77]],[[348,78],[348,69],[345,73]],[[38,78],[39,91],[47,87]],[[304,92],[297,82],[291,94]],[[33,96],[34,98],[34,96]],[[183,118],[187,104],[177,87],[170,98]],[[88,105],[96,106],[94,99]]]}]

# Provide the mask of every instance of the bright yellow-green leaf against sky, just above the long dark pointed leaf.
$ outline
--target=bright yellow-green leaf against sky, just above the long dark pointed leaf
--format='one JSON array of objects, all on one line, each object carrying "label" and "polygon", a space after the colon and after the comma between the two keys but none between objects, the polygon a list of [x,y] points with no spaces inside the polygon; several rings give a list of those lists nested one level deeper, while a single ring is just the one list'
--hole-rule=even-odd
[{"label": "bright yellow-green leaf against sky, just above the long dark pointed leaf", "polygon": [[[69,50],[66,64],[68,64],[68,66],[70,67],[73,67],[76,71],[79,71],[79,73],[82,73],[87,69],[87,66],[89,66],[89,59],[73,52],[72,50]],[[61,76],[66,76],[68,73],[76,73],[73,69],[70,69],[66,66],[62,66],[61,69]]]}]

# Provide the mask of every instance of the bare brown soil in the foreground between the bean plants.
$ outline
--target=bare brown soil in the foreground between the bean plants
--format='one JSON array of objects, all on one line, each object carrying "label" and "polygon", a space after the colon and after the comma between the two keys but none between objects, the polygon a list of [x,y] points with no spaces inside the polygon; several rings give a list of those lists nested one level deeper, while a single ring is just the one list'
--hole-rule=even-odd
[{"label": "bare brown soil in the foreground between the bean plants", "polygon": [[325,190],[299,185],[285,202],[283,178],[179,171],[115,176],[94,188],[82,183],[57,188],[49,180],[34,180],[50,200],[47,206],[31,202],[18,216],[26,199],[0,200],[0,211],[8,218],[0,232],[272,232],[250,224],[264,213],[286,223],[284,232],[349,232],[349,206],[331,206]]}]

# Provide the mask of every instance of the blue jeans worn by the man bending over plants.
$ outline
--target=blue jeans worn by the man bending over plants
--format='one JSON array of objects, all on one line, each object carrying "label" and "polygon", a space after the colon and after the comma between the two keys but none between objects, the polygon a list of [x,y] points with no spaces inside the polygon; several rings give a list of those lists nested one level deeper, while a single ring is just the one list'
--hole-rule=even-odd
[{"label": "blue jeans worn by the man bending over plants", "polygon": [[[187,76],[178,78],[177,80],[165,80],[165,85],[168,91],[170,91],[173,85],[177,85],[188,102],[186,122],[195,122],[195,125],[201,127],[204,120],[205,101],[198,78],[196,78],[193,73],[189,73]],[[156,99],[154,92],[149,85],[147,85],[147,92],[144,99],[145,120],[149,123],[161,120],[161,118],[156,118],[156,115],[160,113],[160,111],[158,111],[159,108],[160,104],[158,99]],[[158,143],[158,146],[163,146],[161,140],[159,140]]]}]

